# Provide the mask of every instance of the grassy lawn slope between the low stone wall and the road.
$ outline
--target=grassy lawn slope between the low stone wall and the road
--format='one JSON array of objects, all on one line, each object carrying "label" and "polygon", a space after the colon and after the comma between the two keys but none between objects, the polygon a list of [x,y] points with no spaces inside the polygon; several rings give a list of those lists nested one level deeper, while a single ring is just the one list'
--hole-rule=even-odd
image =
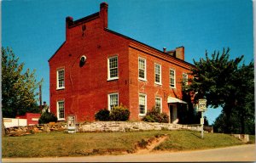
[{"label": "grassy lawn slope between the low stone wall and the road", "polygon": [[3,157],[46,157],[82,155],[119,155],[134,152],[135,144],[143,139],[167,134],[165,143],[156,149],[190,150],[210,149],[242,144],[241,141],[226,134],[190,131],[152,131],[152,132],[84,132],[67,134],[64,132],[42,132],[23,137],[4,137]]}]

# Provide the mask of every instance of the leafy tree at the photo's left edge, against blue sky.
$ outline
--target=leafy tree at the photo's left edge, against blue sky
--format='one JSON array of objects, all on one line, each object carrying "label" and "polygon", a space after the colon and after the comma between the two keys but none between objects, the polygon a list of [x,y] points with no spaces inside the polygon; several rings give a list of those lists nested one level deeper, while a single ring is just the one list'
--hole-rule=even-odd
[{"label": "leafy tree at the photo's left edge, against blue sky", "polygon": [[15,117],[26,112],[39,112],[36,92],[39,84],[36,70],[23,70],[24,63],[11,48],[2,48],[2,105],[3,117]]}]

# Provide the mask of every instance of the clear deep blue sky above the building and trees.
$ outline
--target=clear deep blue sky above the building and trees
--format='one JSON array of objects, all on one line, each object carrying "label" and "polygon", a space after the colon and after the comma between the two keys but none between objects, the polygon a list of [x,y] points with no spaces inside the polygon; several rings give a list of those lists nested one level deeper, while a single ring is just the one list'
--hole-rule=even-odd
[{"label": "clear deep blue sky above the building and trees", "polygon": [[[108,29],[162,50],[185,48],[193,64],[205,53],[230,48],[230,59],[253,60],[251,0],[12,0],[2,2],[2,46],[10,47],[25,68],[44,78],[49,104],[48,59],[65,41],[65,19],[79,20],[108,3]],[[221,109],[204,114],[212,123]]]}]

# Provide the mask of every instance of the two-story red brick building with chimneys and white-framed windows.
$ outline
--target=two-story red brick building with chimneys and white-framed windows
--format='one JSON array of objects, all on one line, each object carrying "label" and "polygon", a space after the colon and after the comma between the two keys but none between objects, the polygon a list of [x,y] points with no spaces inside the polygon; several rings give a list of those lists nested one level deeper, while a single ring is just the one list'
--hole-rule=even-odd
[{"label": "two-story red brick building with chimneys and white-framed windows", "polygon": [[183,47],[160,51],[109,30],[108,4],[101,3],[96,14],[66,19],[66,41],[49,59],[50,111],[59,121],[94,121],[98,110],[123,104],[138,121],[156,106],[177,122],[191,66]]}]

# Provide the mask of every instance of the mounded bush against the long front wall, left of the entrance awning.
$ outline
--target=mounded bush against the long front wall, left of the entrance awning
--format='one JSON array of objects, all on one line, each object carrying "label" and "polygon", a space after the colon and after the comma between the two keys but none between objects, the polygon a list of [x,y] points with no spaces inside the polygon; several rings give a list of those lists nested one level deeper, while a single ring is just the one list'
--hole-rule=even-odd
[{"label": "mounded bush against the long front wall, left of the entrance awning", "polygon": [[166,113],[160,113],[160,110],[153,107],[152,110],[148,111],[148,113],[145,115],[143,121],[168,123],[169,116],[166,115]]}]

